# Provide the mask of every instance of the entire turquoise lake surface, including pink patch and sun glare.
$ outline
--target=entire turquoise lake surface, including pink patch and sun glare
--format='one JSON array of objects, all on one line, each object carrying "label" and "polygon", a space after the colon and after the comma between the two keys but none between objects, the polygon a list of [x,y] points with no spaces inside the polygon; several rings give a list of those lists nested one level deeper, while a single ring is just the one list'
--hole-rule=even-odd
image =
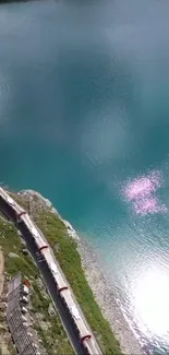
[{"label": "entire turquoise lake surface, including pink patch and sun glare", "polygon": [[169,354],[169,3],[0,8],[0,180],[100,255],[140,341]]}]

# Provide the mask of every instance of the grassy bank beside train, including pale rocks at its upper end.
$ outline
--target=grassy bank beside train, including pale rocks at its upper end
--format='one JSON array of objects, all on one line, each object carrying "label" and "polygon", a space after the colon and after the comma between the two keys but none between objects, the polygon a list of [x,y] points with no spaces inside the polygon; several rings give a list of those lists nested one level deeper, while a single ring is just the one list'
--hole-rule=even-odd
[{"label": "grassy bank beside train, including pale rocks at its upper end", "polygon": [[119,341],[113,335],[109,322],[102,316],[92,288],[86,280],[79,251],[81,238],[69,222],[61,218],[50,201],[39,193],[25,190],[12,194],[43,230],[49,241],[74,295],[84,311],[104,354],[122,354]]}]

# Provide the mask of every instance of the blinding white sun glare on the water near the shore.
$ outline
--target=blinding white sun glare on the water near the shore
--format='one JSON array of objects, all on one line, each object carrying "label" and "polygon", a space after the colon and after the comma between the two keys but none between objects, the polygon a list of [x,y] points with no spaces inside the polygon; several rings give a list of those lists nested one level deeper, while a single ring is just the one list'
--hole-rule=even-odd
[{"label": "blinding white sun glare on the water near the shore", "polygon": [[169,275],[158,267],[147,269],[135,281],[133,295],[135,317],[140,318],[142,329],[147,334],[166,341],[169,335]]}]

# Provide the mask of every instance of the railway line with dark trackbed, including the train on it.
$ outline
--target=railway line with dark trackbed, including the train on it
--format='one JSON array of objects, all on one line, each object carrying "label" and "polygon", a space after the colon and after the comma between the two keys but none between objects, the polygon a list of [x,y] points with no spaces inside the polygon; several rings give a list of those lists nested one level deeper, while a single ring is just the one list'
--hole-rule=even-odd
[{"label": "railway line with dark trackbed, including the train on it", "polygon": [[0,211],[20,230],[76,354],[102,355],[52,249],[28,213],[0,187]]}]

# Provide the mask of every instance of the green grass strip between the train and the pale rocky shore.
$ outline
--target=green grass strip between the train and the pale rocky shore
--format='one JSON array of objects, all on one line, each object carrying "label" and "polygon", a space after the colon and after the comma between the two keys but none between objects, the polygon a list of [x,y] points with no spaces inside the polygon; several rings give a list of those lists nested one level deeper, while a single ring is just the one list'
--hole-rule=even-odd
[{"label": "green grass strip between the train and the pale rocky shore", "polygon": [[[25,198],[16,197],[17,202],[27,206]],[[37,200],[37,198],[36,198]],[[37,201],[34,201],[37,202]],[[80,303],[84,315],[95,333],[104,354],[120,355],[120,344],[113,335],[108,321],[104,318],[90,287],[86,281],[76,242],[68,236],[63,222],[49,210],[35,209],[33,218],[44,232],[52,247],[74,295]]]}]

